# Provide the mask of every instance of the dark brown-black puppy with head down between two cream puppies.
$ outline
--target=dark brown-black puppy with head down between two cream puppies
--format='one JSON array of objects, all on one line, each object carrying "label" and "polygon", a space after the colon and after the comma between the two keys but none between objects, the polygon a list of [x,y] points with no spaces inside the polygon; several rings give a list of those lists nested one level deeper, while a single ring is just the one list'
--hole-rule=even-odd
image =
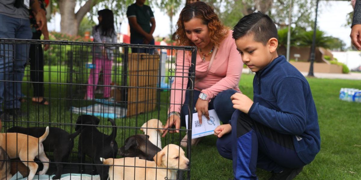
[{"label": "dark brown-black puppy with head down between two cream puppies", "polygon": [[149,136],[145,134],[136,134],[125,140],[125,145],[119,148],[119,154],[122,157],[139,157],[154,161],[154,156],[161,151],[156,145],[149,141]]}]

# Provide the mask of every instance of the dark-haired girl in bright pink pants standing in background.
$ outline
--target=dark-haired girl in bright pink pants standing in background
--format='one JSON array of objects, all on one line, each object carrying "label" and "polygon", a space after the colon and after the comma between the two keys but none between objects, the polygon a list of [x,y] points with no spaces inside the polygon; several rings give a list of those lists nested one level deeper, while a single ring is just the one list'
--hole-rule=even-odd
[{"label": "dark-haired girl in bright pink pants standing in background", "polygon": [[[98,11],[99,24],[93,27],[94,42],[117,43],[117,34],[114,30],[114,15],[109,9]],[[104,48],[94,46],[93,65],[88,78],[87,94],[84,99],[94,99],[94,91],[99,81],[99,72],[103,70],[104,92],[103,97],[110,96],[110,82],[112,75],[113,50],[115,47]]]}]

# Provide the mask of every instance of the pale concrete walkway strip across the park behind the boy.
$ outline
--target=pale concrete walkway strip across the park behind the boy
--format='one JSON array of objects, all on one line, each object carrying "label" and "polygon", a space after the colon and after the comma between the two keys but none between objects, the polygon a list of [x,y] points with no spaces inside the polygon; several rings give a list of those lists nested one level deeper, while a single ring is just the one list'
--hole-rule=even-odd
[{"label": "pale concrete walkway strip across the park behind the boy", "polygon": [[[243,68],[242,73],[253,73],[249,68]],[[308,72],[301,72],[304,76],[308,75]],[[361,80],[361,73],[350,72],[348,74],[340,73],[313,73],[317,78],[327,78],[327,79],[349,79],[349,80]]]}]

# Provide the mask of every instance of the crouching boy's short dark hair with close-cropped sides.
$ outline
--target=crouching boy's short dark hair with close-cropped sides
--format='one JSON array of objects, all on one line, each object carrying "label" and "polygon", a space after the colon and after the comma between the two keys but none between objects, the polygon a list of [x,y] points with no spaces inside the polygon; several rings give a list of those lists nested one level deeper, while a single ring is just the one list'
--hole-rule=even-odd
[{"label": "crouching boy's short dark hair with close-cropped sides", "polygon": [[264,45],[273,37],[278,39],[277,28],[272,19],[259,11],[240,19],[233,28],[232,37],[237,40],[250,34],[253,34],[255,41],[262,42]]}]

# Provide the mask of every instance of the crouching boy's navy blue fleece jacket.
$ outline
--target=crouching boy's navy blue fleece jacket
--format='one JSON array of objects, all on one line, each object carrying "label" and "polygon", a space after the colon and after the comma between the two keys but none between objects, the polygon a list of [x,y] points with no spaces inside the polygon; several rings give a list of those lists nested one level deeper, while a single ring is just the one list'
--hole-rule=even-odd
[{"label": "crouching boy's navy blue fleece jacket", "polygon": [[306,78],[284,56],[275,58],[253,79],[249,116],[282,134],[295,135],[299,158],[310,163],[320,150],[318,117]]}]

